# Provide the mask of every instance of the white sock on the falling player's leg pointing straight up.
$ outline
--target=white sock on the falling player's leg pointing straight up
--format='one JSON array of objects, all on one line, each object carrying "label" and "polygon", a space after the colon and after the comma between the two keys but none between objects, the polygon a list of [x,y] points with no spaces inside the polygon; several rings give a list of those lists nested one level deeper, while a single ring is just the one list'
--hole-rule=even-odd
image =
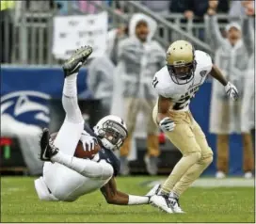
[{"label": "white sock on the falling player's leg pointing straight up", "polygon": [[62,105],[66,112],[66,118],[67,120],[74,123],[80,123],[84,121],[77,103],[77,74],[78,73],[73,73],[72,75],[65,78],[62,95]]}]

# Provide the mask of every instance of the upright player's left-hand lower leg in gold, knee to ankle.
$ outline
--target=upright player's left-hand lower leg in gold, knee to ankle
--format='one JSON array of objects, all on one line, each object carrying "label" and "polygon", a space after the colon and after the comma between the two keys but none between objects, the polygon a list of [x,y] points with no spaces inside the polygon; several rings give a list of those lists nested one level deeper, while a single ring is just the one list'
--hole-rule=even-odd
[{"label": "upright player's left-hand lower leg in gold, knee to ankle", "polygon": [[168,180],[161,187],[161,194],[168,194],[175,184],[181,180],[184,176],[184,173],[196,164],[200,159],[200,152],[193,152],[186,156],[183,156],[182,159],[176,164],[172,172],[168,176]]}]

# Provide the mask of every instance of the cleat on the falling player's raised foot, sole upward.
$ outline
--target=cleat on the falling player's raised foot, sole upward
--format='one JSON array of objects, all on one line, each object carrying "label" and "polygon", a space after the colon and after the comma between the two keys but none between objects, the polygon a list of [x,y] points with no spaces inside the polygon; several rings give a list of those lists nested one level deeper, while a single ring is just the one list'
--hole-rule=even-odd
[{"label": "cleat on the falling player's raised foot, sole upward", "polygon": [[90,46],[83,46],[77,49],[62,66],[65,78],[73,73],[79,71],[79,69],[86,63],[88,56],[92,53]]}]

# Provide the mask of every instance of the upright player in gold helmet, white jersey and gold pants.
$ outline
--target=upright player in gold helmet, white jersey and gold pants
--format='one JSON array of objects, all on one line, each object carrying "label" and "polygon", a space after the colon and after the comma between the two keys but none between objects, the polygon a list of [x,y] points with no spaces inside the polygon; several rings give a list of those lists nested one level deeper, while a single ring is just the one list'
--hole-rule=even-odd
[{"label": "upright player in gold helmet, white jersey and gold pants", "polygon": [[179,197],[213,161],[213,152],[189,110],[191,98],[207,75],[216,78],[228,96],[237,100],[237,89],[213,65],[211,56],[195,51],[192,44],[184,40],[168,47],[167,65],[156,72],[152,80],[152,88],[159,95],[152,111],[153,120],[183,153],[158,194],[151,199],[154,206],[168,213],[183,213]]}]

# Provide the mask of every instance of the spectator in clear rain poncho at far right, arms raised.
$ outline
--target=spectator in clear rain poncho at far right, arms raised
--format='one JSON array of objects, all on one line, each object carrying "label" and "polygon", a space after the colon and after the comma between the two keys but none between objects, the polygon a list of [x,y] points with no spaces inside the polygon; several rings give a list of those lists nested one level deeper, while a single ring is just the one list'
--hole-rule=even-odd
[{"label": "spectator in clear rain poncho at far right, arms raised", "polygon": [[[227,39],[221,37],[216,21],[216,12],[208,11],[211,44],[216,49],[215,62],[226,77],[238,88],[240,96],[244,92],[244,74],[248,66],[248,52],[242,40],[241,25],[228,24]],[[213,83],[210,133],[216,134],[217,148],[217,178],[223,178],[229,171],[229,136],[233,133],[242,134],[244,152],[245,177],[251,177],[253,170],[252,139],[248,133],[241,130],[241,101],[232,103],[225,91],[216,81]]]}]

